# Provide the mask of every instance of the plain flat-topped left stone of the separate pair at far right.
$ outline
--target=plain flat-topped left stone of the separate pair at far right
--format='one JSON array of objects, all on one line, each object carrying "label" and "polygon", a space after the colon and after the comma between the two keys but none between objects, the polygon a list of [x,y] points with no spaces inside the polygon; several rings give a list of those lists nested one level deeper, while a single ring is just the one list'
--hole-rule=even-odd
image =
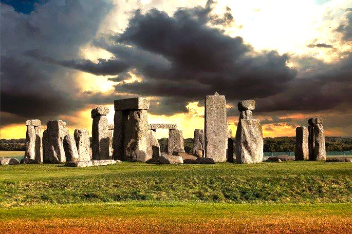
[{"label": "plain flat-topped left stone of the separate pair at far right", "polygon": [[296,142],[294,148],[295,160],[308,160],[308,128],[307,127],[297,127],[296,128]]}]

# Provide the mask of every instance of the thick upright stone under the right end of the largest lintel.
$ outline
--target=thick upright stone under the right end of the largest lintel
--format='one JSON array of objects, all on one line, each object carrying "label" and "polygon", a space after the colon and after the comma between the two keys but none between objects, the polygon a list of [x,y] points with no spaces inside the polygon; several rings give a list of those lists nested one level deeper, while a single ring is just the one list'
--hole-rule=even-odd
[{"label": "thick upright stone under the right end of the largest lintel", "polygon": [[[116,126],[116,125],[115,125]],[[124,130],[124,160],[137,161],[137,150],[147,152],[150,129],[146,110],[133,110],[129,112]],[[145,161],[152,158],[148,155]]]}]

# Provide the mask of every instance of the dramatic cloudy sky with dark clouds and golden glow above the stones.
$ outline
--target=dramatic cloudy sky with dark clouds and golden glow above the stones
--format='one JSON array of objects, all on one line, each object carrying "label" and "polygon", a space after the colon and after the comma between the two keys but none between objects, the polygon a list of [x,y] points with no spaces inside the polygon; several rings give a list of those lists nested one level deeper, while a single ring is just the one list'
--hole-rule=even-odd
[{"label": "dramatic cloudy sky with dark clouds and golden glow above the stones", "polygon": [[[265,137],[294,136],[311,116],[352,135],[352,1],[1,0],[0,138],[25,121],[91,130],[90,110],[151,102],[149,123],[204,127],[206,95],[226,96],[236,131],[253,99]],[[158,130],[158,138],[168,131]]]}]

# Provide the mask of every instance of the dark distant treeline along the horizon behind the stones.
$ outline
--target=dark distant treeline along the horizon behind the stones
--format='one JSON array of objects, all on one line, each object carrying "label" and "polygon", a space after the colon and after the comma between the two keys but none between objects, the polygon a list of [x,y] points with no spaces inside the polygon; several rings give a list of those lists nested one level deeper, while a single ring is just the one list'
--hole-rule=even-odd
[{"label": "dark distant treeline along the horizon behind the stones", "polygon": [[[234,140],[234,139],[233,139]],[[161,152],[168,150],[168,138],[158,140]],[[25,150],[26,139],[1,139],[0,150]],[[235,141],[234,141],[235,142]],[[184,151],[192,151],[193,139],[184,139]],[[295,137],[280,136],[277,138],[264,138],[264,152],[286,152],[294,151]],[[326,136],[326,151],[348,151],[352,150],[352,136]]]}]

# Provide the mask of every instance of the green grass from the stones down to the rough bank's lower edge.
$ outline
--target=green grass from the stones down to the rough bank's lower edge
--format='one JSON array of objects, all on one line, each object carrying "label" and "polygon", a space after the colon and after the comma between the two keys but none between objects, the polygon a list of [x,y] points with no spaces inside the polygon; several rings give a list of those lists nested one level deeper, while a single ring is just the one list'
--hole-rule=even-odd
[{"label": "green grass from the stones down to the rough bank's lower edge", "polygon": [[0,167],[0,206],[177,201],[226,203],[344,203],[352,201],[352,164],[261,164],[101,167]]}]

